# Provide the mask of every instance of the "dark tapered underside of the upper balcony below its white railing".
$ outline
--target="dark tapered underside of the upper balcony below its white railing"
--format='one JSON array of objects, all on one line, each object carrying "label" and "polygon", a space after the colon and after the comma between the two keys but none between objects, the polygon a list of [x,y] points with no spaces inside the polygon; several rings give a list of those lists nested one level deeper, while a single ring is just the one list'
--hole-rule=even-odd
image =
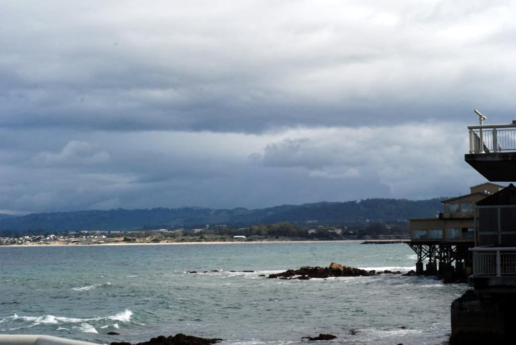
[{"label": "dark tapered underside of the upper balcony below its white railing", "polygon": [[491,182],[516,181],[516,152],[470,153],[464,160]]}]

